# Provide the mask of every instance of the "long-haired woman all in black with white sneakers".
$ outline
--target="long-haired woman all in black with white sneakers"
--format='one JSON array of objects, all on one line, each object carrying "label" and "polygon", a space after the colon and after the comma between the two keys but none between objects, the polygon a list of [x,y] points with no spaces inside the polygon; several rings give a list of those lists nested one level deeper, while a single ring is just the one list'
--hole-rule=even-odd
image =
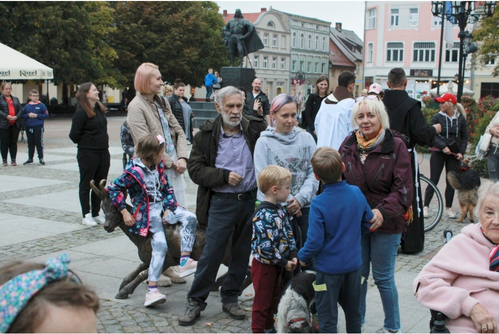
[{"label": "long-haired woman all in black with white sneakers", "polygon": [[[73,115],[69,138],[78,144],[78,168],[80,169],[80,205],[83,224],[104,224],[105,217],[99,214],[100,198],[90,196],[90,181],[99,183],[107,179],[109,172],[109,136],[107,134],[106,108],[99,102],[99,92],[91,83],[82,84],[76,91],[78,109]],[[90,203],[89,203],[90,197]],[[91,211],[90,211],[91,209]]]}]

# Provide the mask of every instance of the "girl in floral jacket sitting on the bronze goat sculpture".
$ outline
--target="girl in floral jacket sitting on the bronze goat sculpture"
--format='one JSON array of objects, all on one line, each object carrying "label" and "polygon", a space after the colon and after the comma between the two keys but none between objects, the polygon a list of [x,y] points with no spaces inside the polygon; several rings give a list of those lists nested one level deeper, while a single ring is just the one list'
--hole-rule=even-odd
[{"label": "girl in floral jacket sitting on the bronze goat sculpture", "polygon": [[[114,206],[132,233],[146,237],[152,234],[153,249],[149,265],[149,289],[144,306],[152,307],[166,302],[166,296],[158,290],[158,280],[163,272],[168,246],[163,224],[182,223],[181,257],[179,276],[194,274],[197,261],[190,258],[196,237],[196,215],[177,205],[173,188],[163,165],[165,138],[148,134],[135,146],[135,157],[130,159],[123,175],[111,181],[107,191]],[[125,206],[122,188],[128,189],[132,200],[132,213]]]}]

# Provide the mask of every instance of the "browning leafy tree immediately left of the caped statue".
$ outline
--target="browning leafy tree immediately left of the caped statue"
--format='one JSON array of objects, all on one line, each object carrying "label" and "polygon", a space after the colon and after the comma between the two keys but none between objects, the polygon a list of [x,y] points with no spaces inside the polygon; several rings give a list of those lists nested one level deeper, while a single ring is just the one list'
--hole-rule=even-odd
[{"label": "browning leafy tree immediately left of the caped statue", "polygon": [[224,20],[212,1],[111,2],[116,30],[111,46],[115,68],[133,82],[143,62],[159,66],[163,80],[201,86],[208,68],[230,64],[222,43]]}]

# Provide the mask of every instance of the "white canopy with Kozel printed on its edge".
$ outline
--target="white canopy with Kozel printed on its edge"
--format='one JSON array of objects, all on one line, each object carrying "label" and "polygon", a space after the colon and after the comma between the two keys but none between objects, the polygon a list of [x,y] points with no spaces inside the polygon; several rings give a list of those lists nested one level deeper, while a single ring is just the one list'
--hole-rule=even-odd
[{"label": "white canopy with Kozel printed on its edge", "polygon": [[53,69],[2,43],[0,54],[0,80],[54,78]]}]

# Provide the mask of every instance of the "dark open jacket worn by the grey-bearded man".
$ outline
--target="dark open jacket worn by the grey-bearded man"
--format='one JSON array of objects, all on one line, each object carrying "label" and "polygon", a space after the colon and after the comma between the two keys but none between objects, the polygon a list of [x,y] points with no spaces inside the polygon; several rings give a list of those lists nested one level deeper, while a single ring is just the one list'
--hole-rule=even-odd
[{"label": "dark open jacket worn by the grey-bearded man", "polygon": [[[231,173],[230,170],[215,167],[221,124],[222,115],[219,114],[214,120],[207,121],[201,126],[201,131],[198,131],[194,136],[191,156],[187,161],[189,176],[194,183],[199,185],[196,216],[203,229],[208,226],[208,212],[213,195],[212,188],[228,184]],[[241,125],[246,143],[250,148],[251,155],[253,155],[256,140],[260,137],[260,133],[265,130],[267,124],[262,119],[243,115]]]}]

